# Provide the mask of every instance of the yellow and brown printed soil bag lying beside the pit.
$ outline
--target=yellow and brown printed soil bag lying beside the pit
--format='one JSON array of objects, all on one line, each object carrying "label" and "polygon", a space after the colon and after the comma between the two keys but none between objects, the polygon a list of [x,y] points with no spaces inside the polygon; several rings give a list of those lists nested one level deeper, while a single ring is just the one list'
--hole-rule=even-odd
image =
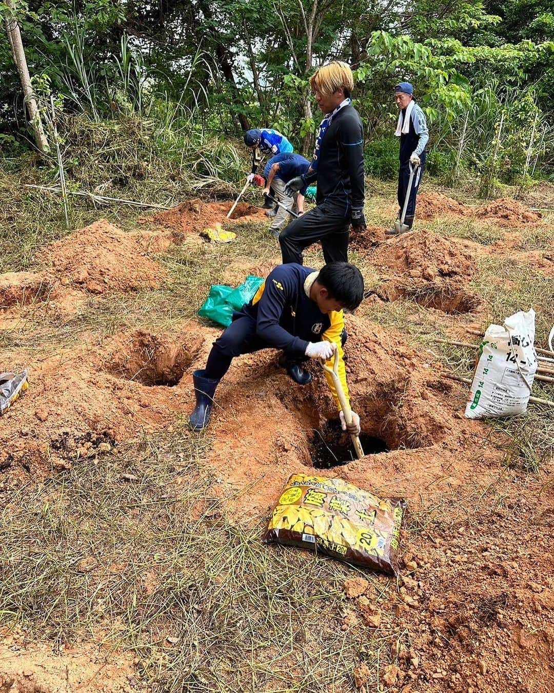
[{"label": "yellow and brown printed soil bag lying beside the pit", "polygon": [[311,549],[397,576],[405,508],[404,500],[377,498],[341,479],[293,474],[262,541]]}]

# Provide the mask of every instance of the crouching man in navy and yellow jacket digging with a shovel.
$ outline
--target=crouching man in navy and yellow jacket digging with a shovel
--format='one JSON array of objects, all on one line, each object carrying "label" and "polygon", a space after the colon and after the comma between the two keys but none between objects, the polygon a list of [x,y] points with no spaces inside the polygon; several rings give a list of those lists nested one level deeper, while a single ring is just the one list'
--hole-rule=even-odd
[{"label": "crouching man in navy and yellow jacket digging with a shovel", "polygon": [[[301,360],[325,360],[332,367],[339,351],[339,378],[349,401],[344,367],[343,310],[355,310],[364,298],[364,279],[357,267],[346,262],[328,263],[317,272],[297,263],[278,265],[267,277],[249,304],[233,313],[233,322],[213,342],[206,367],[193,372],[196,407],[190,427],[199,431],[210,421],[215,389],[235,356],[260,349],[283,349],[302,370]],[[307,373],[306,377],[305,374]],[[296,382],[309,383],[312,376],[289,372]],[[296,376],[296,377],[295,377]],[[331,376],[325,371],[337,407],[339,398]],[[359,416],[352,411],[347,426],[340,411],[343,430],[359,435]]]}]

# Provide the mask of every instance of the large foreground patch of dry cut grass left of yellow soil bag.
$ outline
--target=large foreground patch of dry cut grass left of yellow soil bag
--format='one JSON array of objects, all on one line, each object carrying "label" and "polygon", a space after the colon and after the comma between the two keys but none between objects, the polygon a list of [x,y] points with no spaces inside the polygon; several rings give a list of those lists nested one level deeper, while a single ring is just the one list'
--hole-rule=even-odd
[{"label": "large foreground patch of dry cut grass left of yellow soil bag", "polygon": [[350,690],[360,659],[376,686],[386,640],[339,627],[357,571],[263,546],[262,520],[231,523],[199,462],[208,444],[177,427],[6,489],[2,622],[127,651],[152,690]]}]

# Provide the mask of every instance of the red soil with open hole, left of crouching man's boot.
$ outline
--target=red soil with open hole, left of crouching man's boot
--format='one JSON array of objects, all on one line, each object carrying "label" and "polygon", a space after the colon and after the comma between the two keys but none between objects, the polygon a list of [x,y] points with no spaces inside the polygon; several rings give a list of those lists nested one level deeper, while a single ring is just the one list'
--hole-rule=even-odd
[{"label": "red soil with open hole, left of crouching man's boot", "polygon": [[[137,331],[101,349],[78,347],[26,363],[30,387],[2,417],[0,468],[18,475],[23,466],[42,477],[51,465],[64,468],[77,455],[109,452],[117,441],[161,430],[184,409],[178,385],[203,344],[199,331]],[[14,369],[20,361],[10,357]]]}]

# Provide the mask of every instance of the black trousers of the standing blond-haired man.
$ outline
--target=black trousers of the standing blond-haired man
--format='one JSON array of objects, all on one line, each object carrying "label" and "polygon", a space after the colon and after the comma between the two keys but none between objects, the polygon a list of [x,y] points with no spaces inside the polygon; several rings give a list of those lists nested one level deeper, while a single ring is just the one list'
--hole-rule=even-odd
[{"label": "black trousers of the standing blond-haired man", "polygon": [[321,240],[325,263],[348,262],[348,229],[350,217],[343,207],[322,202],[317,207],[294,219],[281,231],[279,244],[283,265],[303,262],[302,251],[308,245]]}]

